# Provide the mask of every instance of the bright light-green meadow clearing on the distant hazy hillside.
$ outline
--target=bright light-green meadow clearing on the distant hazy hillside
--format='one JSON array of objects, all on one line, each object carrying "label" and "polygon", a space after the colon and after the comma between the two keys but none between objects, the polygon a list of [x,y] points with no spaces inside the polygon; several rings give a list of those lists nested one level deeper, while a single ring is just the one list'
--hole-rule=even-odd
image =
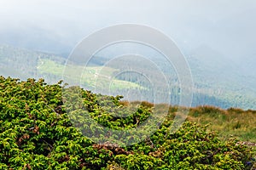
[{"label": "bright light-green meadow clearing on the distant hazy hillside", "polygon": [[[104,67],[104,73],[102,73],[102,66],[84,66],[81,65],[61,65],[50,59],[39,59],[38,60],[38,71],[39,74],[52,74],[55,76],[62,77],[65,75],[72,77],[74,82],[80,82],[86,87],[105,88],[108,87],[109,78],[114,71],[117,71],[110,67]],[[83,71],[81,75],[81,71]],[[65,77],[65,78],[66,78]],[[113,78],[111,80],[110,89],[124,89],[124,88],[143,88],[134,82],[126,82]]]}]

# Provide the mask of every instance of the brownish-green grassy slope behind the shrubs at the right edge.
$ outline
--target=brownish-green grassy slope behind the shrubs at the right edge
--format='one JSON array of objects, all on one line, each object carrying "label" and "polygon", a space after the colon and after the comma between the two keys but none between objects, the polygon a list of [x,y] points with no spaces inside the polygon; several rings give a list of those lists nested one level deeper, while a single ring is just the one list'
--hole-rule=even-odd
[{"label": "brownish-green grassy slope behind the shrubs at the right edge", "polygon": [[234,108],[221,110],[212,106],[201,106],[190,109],[188,120],[202,125],[210,123],[209,128],[218,131],[221,139],[233,136],[242,141],[256,143],[256,111]]}]

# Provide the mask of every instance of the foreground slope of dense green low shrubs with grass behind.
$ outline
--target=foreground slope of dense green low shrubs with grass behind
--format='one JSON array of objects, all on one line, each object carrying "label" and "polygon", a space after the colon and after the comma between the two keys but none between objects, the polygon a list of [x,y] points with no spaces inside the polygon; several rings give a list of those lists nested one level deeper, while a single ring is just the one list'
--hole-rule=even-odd
[{"label": "foreground slope of dense green low shrubs with grass behind", "polygon": [[[76,99],[76,96],[73,93],[65,96],[63,90],[73,92],[73,89],[79,90],[81,103],[64,105],[67,97]],[[223,111],[210,106],[183,108],[181,111],[190,112],[188,121],[171,133],[177,106],[167,105],[168,114],[162,117],[163,123],[152,135],[143,132],[146,136],[143,141],[123,145],[119,144],[120,136],[108,134],[104,143],[96,143],[94,139],[102,136],[93,136],[94,133],[90,132],[104,132],[101,132],[101,127],[94,127],[94,122],[125,132],[125,129],[136,129],[149,116],[158,117],[166,107],[120,99],[120,96],[93,94],[82,88],[67,87],[62,82],[48,85],[43,79],[20,81],[0,77],[0,169],[252,168],[255,161],[252,146],[241,144],[235,138],[221,140],[217,132],[209,130],[211,125],[202,125],[206,122],[196,119],[204,119],[207,115],[209,122],[212,117],[212,122],[221,118],[225,123],[231,117],[248,114],[254,118],[251,120],[253,123],[255,111]],[[84,110],[76,110],[76,105]],[[69,110],[73,111],[67,114]],[[119,111],[119,115],[114,116],[115,111]],[[132,114],[125,116],[131,111]],[[84,120],[86,116],[93,121]],[[89,124],[84,124],[86,121]],[[228,132],[236,133],[236,129],[243,126],[238,123],[234,131]],[[133,139],[140,138],[139,133],[137,135]]]}]

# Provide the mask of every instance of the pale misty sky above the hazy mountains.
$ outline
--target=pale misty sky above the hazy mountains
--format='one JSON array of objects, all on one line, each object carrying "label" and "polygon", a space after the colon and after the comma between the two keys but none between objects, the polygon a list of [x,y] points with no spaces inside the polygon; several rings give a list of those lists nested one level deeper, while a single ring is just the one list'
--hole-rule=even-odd
[{"label": "pale misty sky above the hazy mountains", "polygon": [[[1,0],[0,44],[61,53],[106,26],[152,26],[180,48],[253,55],[254,0]],[[65,51],[66,50],[66,51]]]}]

